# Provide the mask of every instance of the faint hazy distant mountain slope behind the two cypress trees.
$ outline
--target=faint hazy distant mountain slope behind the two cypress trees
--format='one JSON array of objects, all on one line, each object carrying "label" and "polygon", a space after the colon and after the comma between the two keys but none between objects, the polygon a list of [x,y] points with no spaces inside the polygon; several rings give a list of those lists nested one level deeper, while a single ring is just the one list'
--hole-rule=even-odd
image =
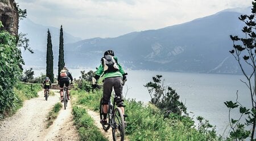
[{"label": "faint hazy distant mountain slope behind the two cypress trees", "polygon": [[[53,52],[59,49],[60,28],[47,27],[42,24],[36,24],[30,19],[25,18],[19,23],[19,33],[26,33],[30,40],[30,48],[34,50],[34,54],[22,52],[23,59],[26,65],[45,66],[46,65],[46,50],[47,50],[47,30],[49,29],[52,37]],[[65,32],[64,43],[76,42],[81,40],[79,37],[74,37]],[[54,59],[57,59],[56,57]]]}]

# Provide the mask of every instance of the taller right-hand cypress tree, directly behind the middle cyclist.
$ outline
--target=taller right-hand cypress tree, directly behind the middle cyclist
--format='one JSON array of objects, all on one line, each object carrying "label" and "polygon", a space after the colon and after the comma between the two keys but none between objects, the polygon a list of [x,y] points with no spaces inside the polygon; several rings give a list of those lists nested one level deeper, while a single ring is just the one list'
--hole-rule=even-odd
[{"label": "taller right-hand cypress tree, directly behind the middle cyclist", "polygon": [[64,66],[65,66],[65,62],[64,62],[63,28],[62,28],[62,25],[61,25],[61,27],[60,27],[60,47],[59,47],[58,76],[59,76],[59,73],[60,73],[61,69],[63,69]]}]

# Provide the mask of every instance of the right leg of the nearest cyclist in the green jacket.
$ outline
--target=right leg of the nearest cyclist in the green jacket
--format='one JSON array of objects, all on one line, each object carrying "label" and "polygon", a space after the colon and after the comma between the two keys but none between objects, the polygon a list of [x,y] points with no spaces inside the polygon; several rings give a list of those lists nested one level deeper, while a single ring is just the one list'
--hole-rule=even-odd
[{"label": "right leg of the nearest cyclist in the green jacket", "polygon": [[123,104],[123,80],[121,77],[116,77],[114,79],[114,91],[115,95],[117,95],[117,106],[122,109],[123,114],[125,114],[125,105]]}]

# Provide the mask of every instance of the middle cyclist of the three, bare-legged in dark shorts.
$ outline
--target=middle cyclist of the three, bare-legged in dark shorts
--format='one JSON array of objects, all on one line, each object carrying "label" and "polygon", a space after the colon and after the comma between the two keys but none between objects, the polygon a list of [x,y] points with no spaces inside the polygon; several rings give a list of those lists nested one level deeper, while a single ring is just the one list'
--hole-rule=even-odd
[{"label": "middle cyclist of the three, bare-legged in dark shorts", "polygon": [[[66,87],[69,86],[69,79],[71,79],[71,84],[73,81],[73,77],[71,73],[68,71],[67,67],[63,67],[58,76],[58,83],[60,84],[60,100],[63,102],[63,87],[64,84]],[[68,100],[70,99],[69,90],[67,91]]]}]

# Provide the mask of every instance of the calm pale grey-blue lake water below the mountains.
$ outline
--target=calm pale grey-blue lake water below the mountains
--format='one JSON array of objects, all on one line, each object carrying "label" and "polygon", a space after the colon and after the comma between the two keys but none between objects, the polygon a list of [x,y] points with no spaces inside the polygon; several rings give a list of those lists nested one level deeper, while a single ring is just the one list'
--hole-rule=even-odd
[{"label": "calm pale grey-blue lake water below the mountains", "polygon": [[[69,70],[73,78],[81,76],[82,69]],[[45,70],[34,70],[35,76]],[[85,69],[89,71],[89,69]],[[228,108],[225,101],[236,100],[238,91],[240,102],[250,106],[249,91],[240,79],[245,80],[242,75],[218,75],[218,74],[194,74],[185,72],[163,72],[163,71],[127,71],[127,82],[123,88],[126,99],[148,102],[150,95],[143,86],[152,82],[152,76],[163,75],[164,85],[170,86],[180,95],[180,100],[188,108],[189,116],[196,118],[203,116],[212,125],[216,125],[218,134],[223,134],[228,126]],[[56,71],[55,71],[56,74]],[[238,114],[233,113],[233,116]]]}]

